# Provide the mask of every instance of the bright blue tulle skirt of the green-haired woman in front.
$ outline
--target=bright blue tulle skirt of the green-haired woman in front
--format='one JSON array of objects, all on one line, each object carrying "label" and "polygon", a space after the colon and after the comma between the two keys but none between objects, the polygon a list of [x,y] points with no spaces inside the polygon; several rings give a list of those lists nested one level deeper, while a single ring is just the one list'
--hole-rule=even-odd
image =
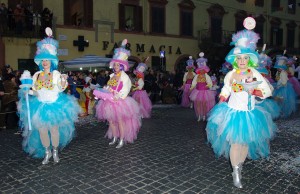
[{"label": "bright blue tulle skirt of the green-haired woman in front", "polygon": [[229,158],[231,144],[248,146],[248,158],[267,157],[269,141],[277,127],[270,113],[261,107],[251,111],[239,111],[227,103],[217,104],[209,113],[206,126],[207,140],[217,157]]}]

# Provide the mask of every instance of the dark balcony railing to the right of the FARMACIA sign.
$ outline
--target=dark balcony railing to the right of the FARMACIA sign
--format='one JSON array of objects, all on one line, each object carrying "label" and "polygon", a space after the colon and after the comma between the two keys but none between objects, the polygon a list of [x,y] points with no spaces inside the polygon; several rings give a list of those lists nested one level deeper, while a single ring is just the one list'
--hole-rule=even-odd
[{"label": "dark balcony railing to the right of the FARMACIA sign", "polygon": [[198,31],[198,42],[211,42],[219,45],[229,45],[234,31],[212,31],[210,29],[203,29]]}]

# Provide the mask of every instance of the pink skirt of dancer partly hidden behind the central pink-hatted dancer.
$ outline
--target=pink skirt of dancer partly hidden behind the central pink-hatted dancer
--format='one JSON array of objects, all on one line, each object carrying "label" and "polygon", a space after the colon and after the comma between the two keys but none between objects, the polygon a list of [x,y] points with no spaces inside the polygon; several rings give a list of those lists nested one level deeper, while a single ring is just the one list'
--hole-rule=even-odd
[{"label": "pink skirt of dancer partly hidden behind the central pink-hatted dancer", "polygon": [[140,106],[140,112],[143,118],[151,117],[152,103],[145,90],[137,90],[133,93],[132,98],[135,99]]}]

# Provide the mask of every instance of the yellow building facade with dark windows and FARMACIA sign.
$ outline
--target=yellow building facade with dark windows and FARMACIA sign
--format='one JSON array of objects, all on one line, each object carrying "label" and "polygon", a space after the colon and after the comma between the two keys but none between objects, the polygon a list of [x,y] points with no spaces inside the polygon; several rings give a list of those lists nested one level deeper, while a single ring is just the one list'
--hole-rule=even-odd
[{"label": "yellow building facade with dark windows and FARMACIA sign", "polygon": [[[19,2],[4,4],[14,10]],[[199,52],[217,69],[231,48],[232,33],[243,29],[248,16],[256,19],[259,48],[266,44],[270,55],[284,49],[300,53],[300,0],[23,0],[21,6],[34,14],[22,19],[22,33],[0,29],[0,65],[14,69],[36,68],[35,44],[47,25],[45,8],[53,14],[48,25],[59,40],[61,61],[83,55],[111,57],[126,38],[129,60],[149,57],[153,69],[184,70],[188,56],[196,59]]]}]

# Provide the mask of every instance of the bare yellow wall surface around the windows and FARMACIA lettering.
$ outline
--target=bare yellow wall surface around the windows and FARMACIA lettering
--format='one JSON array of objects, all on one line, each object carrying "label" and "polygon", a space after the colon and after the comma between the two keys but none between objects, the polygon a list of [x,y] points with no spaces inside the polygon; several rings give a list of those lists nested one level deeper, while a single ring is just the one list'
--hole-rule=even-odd
[{"label": "bare yellow wall surface around the windows and FARMACIA lettering", "polygon": [[[7,0],[2,1],[7,4]],[[236,0],[193,0],[196,8],[194,9],[194,39],[176,38],[179,35],[179,7],[178,3],[181,0],[168,1],[166,6],[166,34],[168,37],[159,37],[149,35],[149,3],[148,0],[140,0],[140,5],[143,7],[143,31],[144,34],[130,34],[130,33],[118,33],[119,28],[119,16],[118,16],[118,4],[121,0],[94,0],[93,5],[93,16],[94,20],[110,21],[115,22],[114,34],[115,42],[119,43],[124,38],[127,38],[129,43],[134,47],[132,50],[132,55],[143,58],[146,56],[158,56],[158,47],[160,45],[165,45],[166,47],[172,46],[173,53],[166,53],[167,60],[167,70],[172,70],[175,61],[180,55],[176,55],[177,47],[180,47],[182,55],[193,55],[197,57],[200,52],[198,48],[198,32],[203,29],[209,29],[210,19],[207,9],[214,3],[221,4],[225,9],[225,15],[223,17],[223,30],[234,31],[235,30],[235,17],[234,14],[241,9],[246,10],[248,13],[263,14],[266,18],[264,37],[270,37],[270,18],[272,16],[279,17],[282,20],[281,27],[283,31],[283,45],[286,44],[286,24],[290,20],[294,20],[297,23],[295,29],[295,48],[299,48],[299,25],[300,25],[300,11],[297,5],[296,14],[287,13],[287,1],[281,0],[281,5],[283,6],[283,11],[271,12],[271,1],[265,1],[263,8],[254,6],[254,0],[247,0],[246,3],[239,3]],[[299,3],[299,1],[297,2]],[[43,0],[43,6],[48,7],[53,11],[56,18],[56,24],[58,25],[56,29],[55,38],[58,39],[59,35],[65,35],[67,37],[66,41],[60,41],[61,49],[68,49],[68,56],[60,56],[61,60],[69,60],[76,57],[80,57],[86,54],[96,54],[104,56],[106,54],[111,54],[110,50],[113,44],[110,43],[110,50],[102,50],[102,41],[109,41],[111,39],[111,32],[109,26],[100,25],[98,26],[98,42],[95,42],[95,29],[82,30],[82,29],[68,29],[65,27],[59,27],[63,25],[64,8],[62,0]],[[84,52],[78,52],[77,47],[73,46],[73,40],[77,40],[79,35],[83,35],[86,40],[89,40],[89,47],[85,48]],[[6,63],[11,64],[15,69],[17,68],[18,59],[29,59],[34,57],[35,53],[35,43],[37,39],[22,39],[22,38],[4,38],[5,43],[5,53],[6,53]],[[269,40],[266,40],[268,43]],[[141,43],[145,44],[145,53],[136,53],[135,44]],[[151,45],[154,45],[156,50],[155,54],[149,53]],[[268,46],[268,45],[267,45]],[[167,50],[167,49],[166,49]],[[150,57],[151,59],[151,57]],[[149,61],[151,64],[151,61]]]}]

